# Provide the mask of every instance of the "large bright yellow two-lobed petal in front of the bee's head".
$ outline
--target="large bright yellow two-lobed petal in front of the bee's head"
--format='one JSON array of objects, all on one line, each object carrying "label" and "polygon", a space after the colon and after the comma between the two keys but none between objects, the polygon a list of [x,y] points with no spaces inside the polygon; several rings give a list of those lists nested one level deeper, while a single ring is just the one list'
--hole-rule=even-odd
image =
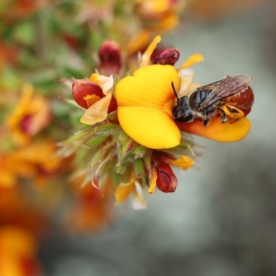
[{"label": "large bright yellow two-lobed petal in front of the bee's head", "polygon": [[172,117],[179,76],[172,66],[152,65],[140,68],[116,86],[118,118],[121,128],[147,148],[173,148],[181,134]]}]

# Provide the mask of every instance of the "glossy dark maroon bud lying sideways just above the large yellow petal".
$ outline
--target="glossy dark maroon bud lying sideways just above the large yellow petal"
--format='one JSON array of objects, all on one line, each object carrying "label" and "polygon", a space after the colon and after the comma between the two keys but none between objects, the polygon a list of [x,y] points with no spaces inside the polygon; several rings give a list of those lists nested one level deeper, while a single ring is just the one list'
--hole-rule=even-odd
[{"label": "glossy dark maroon bud lying sideways just above the large yellow petal", "polygon": [[153,64],[168,64],[174,65],[180,57],[179,50],[177,48],[170,49],[158,49],[153,52],[151,60]]}]

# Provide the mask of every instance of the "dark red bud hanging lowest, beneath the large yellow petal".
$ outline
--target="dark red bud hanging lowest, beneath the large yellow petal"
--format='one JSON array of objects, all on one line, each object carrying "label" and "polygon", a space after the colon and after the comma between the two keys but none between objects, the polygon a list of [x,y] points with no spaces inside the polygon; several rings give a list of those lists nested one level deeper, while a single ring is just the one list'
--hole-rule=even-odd
[{"label": "dark red bud hanging lowest, beneath the large yellow petal", "polygon": [[172,168],[166,163],[161,163],[157,170],[157,187],[164,193],[173,193],[177,188],[177,177],[172,172]]}]

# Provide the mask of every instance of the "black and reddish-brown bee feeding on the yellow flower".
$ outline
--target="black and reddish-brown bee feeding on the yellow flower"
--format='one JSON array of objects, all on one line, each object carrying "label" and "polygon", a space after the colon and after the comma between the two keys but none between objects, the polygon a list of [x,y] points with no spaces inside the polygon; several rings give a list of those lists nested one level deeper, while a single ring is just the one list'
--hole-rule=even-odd
[{"label": "black and reddish-brown bee feeding on the yellow flower", "polygon": [[221,123],[229,118],[244,117],[253,105],[254,94],[249,83],[252,77],[237,75],[197,88],[189,96],[177,97],[172,82],[172,90],[177,97],[177,104],[172,113],[175,121],[191,122],[201,119],[208,126],[210,119],[219,116]]}]

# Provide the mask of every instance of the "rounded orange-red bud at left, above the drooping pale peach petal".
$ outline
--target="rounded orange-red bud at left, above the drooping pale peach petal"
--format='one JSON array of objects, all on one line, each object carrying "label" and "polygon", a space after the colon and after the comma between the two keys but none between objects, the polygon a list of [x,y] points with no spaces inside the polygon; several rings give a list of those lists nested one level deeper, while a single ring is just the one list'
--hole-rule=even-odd
[{"label": "rounded orange-red bud at left, above the drooping pale peach petal", "polygon": [[87,95],[96,95],[102,98],[103,91],[96,83],[90,81],[89,79],[75,80],[72,84],[72,96],[79,106],[83,108],[89,107],[86,100],[83,99]]}]

